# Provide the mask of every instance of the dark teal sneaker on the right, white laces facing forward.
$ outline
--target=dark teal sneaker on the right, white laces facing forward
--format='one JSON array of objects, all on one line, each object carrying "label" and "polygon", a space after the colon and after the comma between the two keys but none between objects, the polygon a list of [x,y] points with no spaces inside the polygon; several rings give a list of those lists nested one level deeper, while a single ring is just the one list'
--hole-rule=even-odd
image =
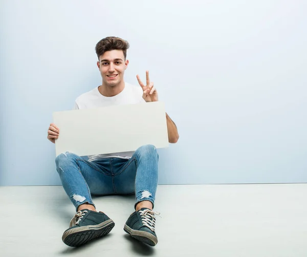
[{"label": "dark teal sneaker on the right, white laces facing forward", "polygon": [[124,231],[145,244],[155,246],[158,244],[158,238],[155,232],[155,214],[160,215],[160,212],[147,208],[133,212],[126,221]]}]

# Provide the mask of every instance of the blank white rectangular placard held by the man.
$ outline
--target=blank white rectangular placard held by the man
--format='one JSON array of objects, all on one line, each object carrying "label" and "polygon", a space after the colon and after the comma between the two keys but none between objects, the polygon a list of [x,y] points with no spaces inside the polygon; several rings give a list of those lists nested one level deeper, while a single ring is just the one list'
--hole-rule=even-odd
[{"label": "blank white rectangular placard held by the man", "polygon": [[168,147],[163,102],[54,112],[53,122],[60,130],[55,141],[57,156],[136,151],[145,144]]}]

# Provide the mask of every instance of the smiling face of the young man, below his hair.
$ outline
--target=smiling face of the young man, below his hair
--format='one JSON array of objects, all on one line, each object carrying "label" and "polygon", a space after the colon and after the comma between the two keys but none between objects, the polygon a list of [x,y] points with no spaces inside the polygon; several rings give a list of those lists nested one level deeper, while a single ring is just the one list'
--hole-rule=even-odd
[{"label": "smiling face of the young man, below his hair", "polygon": [[123,81],[128,60],[125,60],[122,50],[111,50],[99,56],[97,66],[103,84],[114,87]]}]

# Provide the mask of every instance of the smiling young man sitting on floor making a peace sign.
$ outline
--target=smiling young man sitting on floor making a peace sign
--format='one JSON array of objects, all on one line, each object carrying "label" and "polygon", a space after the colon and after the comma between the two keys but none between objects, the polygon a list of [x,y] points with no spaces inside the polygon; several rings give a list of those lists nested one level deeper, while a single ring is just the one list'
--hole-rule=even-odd
[{"label": "smiling young man sitting on floor making a peace sign", "polygon": [[[128,48],[128,42],[118,37],[106,37],[97,43],[97,66],[102,84],[79,96],[75,101],[75,109],[158,101],[158,92],[149,80],[148,71],[146,85],[139,75],[137,79],[140,87],[124,81]],[[167,114],[166,121],[169,142],[176,143],[179,138],[177,127]],[[59,133],[56,124],[51,123],[48,139],[55,143]],[[115,226],[105,213],[96,210],[91,194],[103,196],[135,193],[135,211],[126,221],[124,231],[133,238],[155,246],[158,243],[155,214],[158,213],[152,209],[158,183],[158,160],[153,145],[143,145],[135,152],[89,156],[88,161],[73,153],[57,156],[57,172],[77,211],[70,227],[63,233],[63,242],[69,246],[80,246],[106,235]]]}]

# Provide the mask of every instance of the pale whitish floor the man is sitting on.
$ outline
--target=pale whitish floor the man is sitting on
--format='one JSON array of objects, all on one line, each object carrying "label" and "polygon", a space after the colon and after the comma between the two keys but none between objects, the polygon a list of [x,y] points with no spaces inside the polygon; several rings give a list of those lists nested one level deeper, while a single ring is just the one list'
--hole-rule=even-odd
[{"label": "pale whitish floor the man is sitting on", "polygon": [[74,207],[61,186],[0,187],[0,256],[307,256],[307,184],[160,185],[159,243],[130,239],[134,197],[94,198],[115,221],[106,237],[61,241]]}]

